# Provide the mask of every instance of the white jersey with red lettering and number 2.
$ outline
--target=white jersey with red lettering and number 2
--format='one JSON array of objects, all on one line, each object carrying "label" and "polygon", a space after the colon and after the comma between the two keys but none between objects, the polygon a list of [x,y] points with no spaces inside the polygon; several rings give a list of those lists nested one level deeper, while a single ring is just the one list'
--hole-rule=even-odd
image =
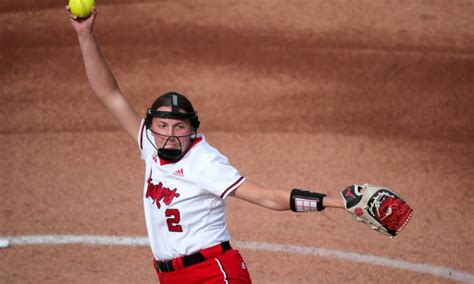
[{"label": "white jersey with red lettering and number 2", "polygon": [[146,164],[143,201],[155,258],[173,259],[230,240],[225,198],[245,178],[203,135],[171,163],[158,157],[147,132],[142,121],[138,143]]}]

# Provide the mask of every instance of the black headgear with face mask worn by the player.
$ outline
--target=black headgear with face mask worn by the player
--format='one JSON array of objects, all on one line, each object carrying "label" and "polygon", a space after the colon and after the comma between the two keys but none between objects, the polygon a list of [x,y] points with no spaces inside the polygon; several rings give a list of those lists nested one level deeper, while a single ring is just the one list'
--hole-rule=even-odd
[{"label": "black headgear with face mask worn by the player", "polygon": [[[183,106],[180,105],[180,101],[184,102]],[[157,108],[161,106],[168,106],[170,104],[171,104],[171,111],[157,111],[156,110]],[[187,105],[187,108],[191,109],[192,111],[191,112],[179,111],[180,109],[184,110],[186,108],[184,105]],[[187,100],[186,97],[176,92],[169,92],[162,95],[155,101],[153,106],[147,110],[146,115],[145,115],[145,127],[147,130],[151,128],[151,122],[153,120],[153,117],[172,118],[172,119],[189,119],[189,121],[191,122],[191,126],[193,127],[195,135],[197,134],[197,130],[200,125],[197,112],[194,111],[191,103]],[[170,136],[168,140],[170,138],[173,138],[173,136]],[[168,140],[166,140],[165,145],[163,145],[163,148],[159,148],[159,149],[155,146],[154,143],[152,143],[152,145],[155,147],[155,149],[158,152],[158,157],[170,162],[177,162],[179,159],[181,159],[181,157],[184,155],[183,149],[181,148],[181,141],[179,140],[178,136],[174,136],[174,138],[178,139],[180,149],[165,149],[165,146],[166,146],[166,143],[168,143]],[[147,131],[147,139],[150,141],[150,138],[148,138],[148,131]]]}]

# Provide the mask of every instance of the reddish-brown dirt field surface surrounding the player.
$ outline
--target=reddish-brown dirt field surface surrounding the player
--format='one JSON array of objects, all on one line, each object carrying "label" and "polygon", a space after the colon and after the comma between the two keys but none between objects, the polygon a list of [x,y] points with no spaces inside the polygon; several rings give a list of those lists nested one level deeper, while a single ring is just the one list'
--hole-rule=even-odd
[{"label": "reddish-brown dirt field surface surrounding the player", "polygon": [[[93,96],[53,0],[0,3],[0,236],[145,236],[136,143]],[[229,200],[235,240],[474,274],[473,1],[98,1],[96,34],[144,113],[169,90],[247,178],[338,192],[371,182],[415,208],[392,240],[340,210]],[[242,249],[255,283],[451,283],[426,273]],[[0,250],[2,283],[156,281],[147,247]],[[365,273],[354,275],[355,268]]]}]

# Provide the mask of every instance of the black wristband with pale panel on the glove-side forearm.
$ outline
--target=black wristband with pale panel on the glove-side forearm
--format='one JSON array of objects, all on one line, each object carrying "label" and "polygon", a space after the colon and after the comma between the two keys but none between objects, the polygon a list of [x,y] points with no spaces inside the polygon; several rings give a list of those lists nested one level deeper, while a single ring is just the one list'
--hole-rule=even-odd
[{"label": "black wristband with pale panel on the glove-side forearm", "polygon": [[290,208],[294,212],[323,211],[324,193],[293,189],[290,195]]}]

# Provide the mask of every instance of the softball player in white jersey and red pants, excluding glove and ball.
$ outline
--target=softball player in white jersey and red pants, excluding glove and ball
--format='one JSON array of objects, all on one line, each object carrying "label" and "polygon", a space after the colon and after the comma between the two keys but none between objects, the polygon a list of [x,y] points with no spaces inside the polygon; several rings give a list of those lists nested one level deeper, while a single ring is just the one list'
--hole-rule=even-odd
[{"label": "softball player in white jersey and red pants, excluding glove and ball", "polygon": [[232,249],[225,200],[233,196],[272,209],[344,208],[336,195],[274,190],[246,180],[198,133],[191,102],[175,92],[160,96],[141,118],[122,96],[94,36],[97,16],[70,15],[95,95],[137,140],[146,164],[143,203],[154,266],[161,283],[251,283]]}]

